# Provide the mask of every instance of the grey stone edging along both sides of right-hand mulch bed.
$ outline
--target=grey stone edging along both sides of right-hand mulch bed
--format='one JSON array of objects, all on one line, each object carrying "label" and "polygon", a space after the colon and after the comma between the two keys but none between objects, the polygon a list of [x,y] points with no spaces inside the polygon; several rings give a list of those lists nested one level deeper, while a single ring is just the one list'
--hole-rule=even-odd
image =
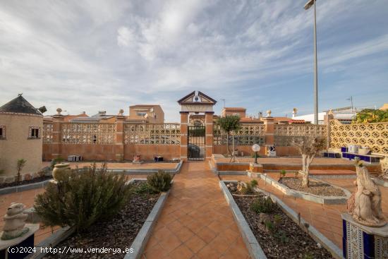
[{"label": "grey stone edging along both sides of right-hand mulch bed", "polygon": [[[238,206],[236,205],[236,202],[234,201],[233,199],[233,196],[231,195],[231,193],[229,192],[229,189],[226,187],[225,185],[225,182],[233,182],[233,183],[236,183],[237,181],[219,181],[219,186],[222,188],[222,191],[224,192],[224,196],[226,198],[226,200],[228,201],[229,203],[229,207],[231,207],[231,210],[233,211],[234,213],[234,217],[236,218],[236,215],[235,215],[235,211],[238,212],[242,217],[242,213],[241,213],[241,210],[238,208]],[[303,219],[302,217],[299,217],[298,219],[298,214],[293,211],[289,206],[287,206],[282,200],[280,200],[279,198],[277,198],[276,195],[273,195],[272,193],[268,193],[266,191],[263,191],[261,190],[260,188],[257,188],[258,191],[260,191],[261,193],[264,193],[265,195],[268,195],[269,197],[271,197],[271,199],[277,203],[277,205],[279,205],[279,207],[281,208],[281,210],[286,213],[287,216],[289,216],[293,222],[295,222],[296,224],[298,224],[299,227],[301,227],[303,230],[308,230],[308,234],[310,234],[310,236],[317,242],[321,243],[322,246],[324,246],[327,251],[329,251],[330,253],[332,253],[332,255],[334,256],[334,258],[337,258],[337,259],[342,259],[344,258],[343,255],[342,255],[342,251],[340,248],[338,248],[332,241],[330,241],[329,239],[327,239],[326,236],[324,236],[322,233],[320,233],[320,231],[318,231],[317,229],[315,229],[315,227],[311,226],[309,224],[309,227],[308,229],[306,229],[305,227],[305,223],[308,223],[305,221],[305,219]],[[229,200],[231,200],[232,202],[229,202]],[[236,206],[236,207],[234,207]],[[245,218],[243,218],[245,224],[247,224],[246,227],[249,228],[248,226],[248,223],[245,221]],[[245,229],[242,230],[242,227],[240,226],[240,222],[238,221],[238,219],[236,219],[237,221],[237,224],[238,224],[238,228],[241,230],[241,234],[243,234],[243,236],[245,235],[245,233],[243,233],[243,231],[245,231]],[[253,235],[253,232],[252,230],[250,230],[250,228],[248,229],[248,234],[252,234]],[[253,235],[253,237],[255,238],[255,236]],[[245,237],[244,237],[244,241],[245,241]],[[255,238],[255,241],[257,242],[256,238]],[[248,247],[248,250],[250,250],[250,246],[251,244],[250,243],[247,243],[245,241],[245,244],[247,245]],[[257,245],[260,246],[257,242]],[[261,247],[260,247],[261,249]],[[252,254],[251,254],[252,256]],[[265,256],[265,255],[264,255]],[[253,258],[257,258],[255,256],[253,256]],[[266,258],[266,257],[258,257],[260,259],[262,258]]]}]

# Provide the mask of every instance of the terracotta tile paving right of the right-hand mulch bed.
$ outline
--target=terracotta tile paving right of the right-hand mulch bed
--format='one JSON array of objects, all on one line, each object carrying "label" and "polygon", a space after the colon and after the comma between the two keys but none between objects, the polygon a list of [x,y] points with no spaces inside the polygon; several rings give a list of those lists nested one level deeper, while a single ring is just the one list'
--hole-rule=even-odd
[{"label": "terracotta tile paving right of the right-hand mulch bed", "polygon": [[[279,174],[268,174],[274,179],[279,179]],[[289,174],[287,176],[293,176]],[[235,180],[235,181],[250,181],[248,176],[221,176],[223,180]],[[332,182],[337,186],[353,191],[354,179],[325,179],[325,181]],[[328,239],[335,243],[342,249],[342,219],[341,213],[346,212],[346,205],[321,205],[318,203],[312,203],[308,200],[301,198],[294,198],[288,195],[284,195],[281,191],[265,184],[265,181],[259,180],[259,188],[268,191],[280,198],[291,209],[301,213],[303,217],[310,225],[313,225],[318,231],[324,234]],[[388,188],[380,186],[382,191],[382,211],[384,215],[388,217]]]}]

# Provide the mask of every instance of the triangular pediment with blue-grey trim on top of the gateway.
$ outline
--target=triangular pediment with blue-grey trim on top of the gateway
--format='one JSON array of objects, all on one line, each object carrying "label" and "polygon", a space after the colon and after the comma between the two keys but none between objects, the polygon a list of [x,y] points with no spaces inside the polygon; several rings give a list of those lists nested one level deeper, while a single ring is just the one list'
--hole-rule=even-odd
[{"label": "triangular pediment with blue-grey trim on top of the gateway", "polygon": [[182,112],[212,112],[216,103],[216,100],[200,91],[190,92],[178,100]]}]

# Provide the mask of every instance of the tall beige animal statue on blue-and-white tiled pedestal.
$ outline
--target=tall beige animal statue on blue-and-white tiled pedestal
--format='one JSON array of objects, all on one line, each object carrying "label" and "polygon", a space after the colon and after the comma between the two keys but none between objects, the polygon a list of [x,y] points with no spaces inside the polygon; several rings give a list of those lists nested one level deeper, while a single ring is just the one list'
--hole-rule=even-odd
[{"label": "tall beige animal statue on blue-and-white tiled pedestal", "polygon": [[356,193],[348,199],[348,212],[353,219],[368,227],[382,227],[386,224],[381,208],[381,192],[370,178],[368,170],[356,161]]}]

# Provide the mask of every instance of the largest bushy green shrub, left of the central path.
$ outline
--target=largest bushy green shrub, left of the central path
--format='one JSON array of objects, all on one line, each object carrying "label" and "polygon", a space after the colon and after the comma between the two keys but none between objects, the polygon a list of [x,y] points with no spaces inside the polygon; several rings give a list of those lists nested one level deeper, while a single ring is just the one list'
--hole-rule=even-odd
[{"label": "largest bushy green shrub, left of the central path", "polygon": [[132,186],[123,174],[109,174],[107,165],[61,174],[57,184],[35,198],[35,210],[47,226],[74,226],[84,231],[97,220],[116,215],[128,202]]}]

